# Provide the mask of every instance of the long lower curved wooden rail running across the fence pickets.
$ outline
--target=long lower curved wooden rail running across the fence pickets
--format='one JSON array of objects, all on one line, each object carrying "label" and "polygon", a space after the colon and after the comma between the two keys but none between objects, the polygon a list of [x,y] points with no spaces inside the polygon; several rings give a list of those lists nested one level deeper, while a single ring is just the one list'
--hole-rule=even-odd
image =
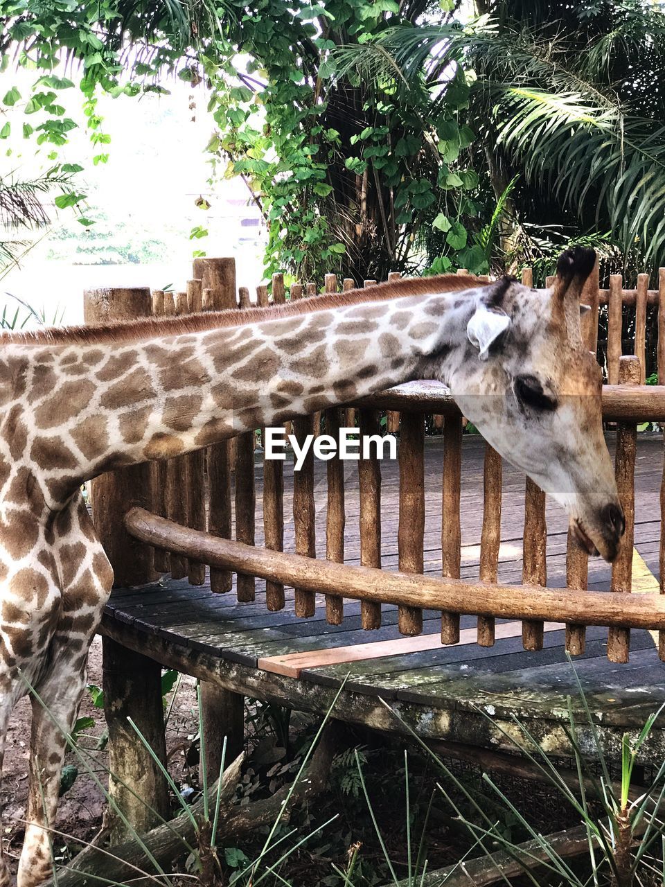
[{"label": "long lower curved wooden rail running across the fence pickets", "polygon": [[145,508],[131,508],[125,527],[148,545],[167,548],[220,569],[237,570],[312,592],[339,594],[401,607],[426,608],[583,625],[665,629],[665,597],[614,595],[549,589],[536,585],[492,585],[459,579],[392,573],[372,567],[348,567],[298,554],[254,548],[168,521]]}]

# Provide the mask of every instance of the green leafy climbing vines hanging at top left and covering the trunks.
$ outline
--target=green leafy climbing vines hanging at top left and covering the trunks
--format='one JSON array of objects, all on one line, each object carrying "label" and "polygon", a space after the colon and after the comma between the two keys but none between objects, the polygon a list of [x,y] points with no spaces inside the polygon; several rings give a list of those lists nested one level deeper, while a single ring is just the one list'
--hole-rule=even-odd
[{"label": "green leafy climbing vines hanging at top left and covering the trunks", "polygon": [[[484,271],[486,254],[469,236],[480,228],[473,221],[481,184],[472,168],[474,133],[464,119],[473,73],[459,60],[414,87],[399,70],[366,82],[344,63],[345,47],[415,24],[433,6],[227,0],[197,6],[193,18],[192,8],[173,4],[138,11],[124,0],[0,0],[2,65],[35,70],[28,96],[15,86],[6,91],[4,127],[15,125],[10,110],[22,110],[22,137],[45,146],[57,165],[72,130],[84,125],[91,162],[104,163],[112,148],[99,91],[165,92],[165,75],[176,75],[192,84],[198,103],[205,95],[215,176],[243,176],[248,199],[262,210],[268,273],[286,267],[306,279],[328,270],[385,279],[425,255],[435,257],[432,271]],[[83,122],[70,113],[75,86]],[[73,188],[57,203],[78,208],[84,197]],[[80,221],[94,220],[81,212]],[[192,231],[197,247],[205,234],[203,225]]]}]

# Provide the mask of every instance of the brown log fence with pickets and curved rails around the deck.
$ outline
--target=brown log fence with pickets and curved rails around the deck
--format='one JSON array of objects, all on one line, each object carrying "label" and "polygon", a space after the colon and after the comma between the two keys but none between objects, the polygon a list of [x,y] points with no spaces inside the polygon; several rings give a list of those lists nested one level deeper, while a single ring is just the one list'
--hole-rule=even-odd
[{"label": "brown log fence with pickets and curved rails around the deck", "polygon": [[[245,307],[249,294],[240,289],[236,297],[235,269],[230,259],[197,259],[194,279],[186,293],[153,293],[155,314],[184,313]],[[522,275],[530,284],[530,271]],[[375,281],[365,281],[372,286]],[[353,281],[345,280],[342,288]],[[291,299],[312,294],[312,285],[290,287]],[[334,275],[326,275],[325,291],[336,292]],[[121,305],[108,291],[106,317],[125,316]],[[125,291],[123,291],[125,292]],[[272,279],[272,302],[286,300],[284,279]],[[631,588],[632,534],[634,529],[634,469],[637,447],[636,425],[640,421],[665,421],[665,270],[661,269],[659,289],[648,289],[648,277],[640,275],[635,290],[622,290],[622,282],[613,277],[609,290],[599,290],[597,272],[587,282],[583,300],[591,304],[584,319],[583,336],[591,350],[598,345],[599,310],[608,306],[607,374],[609,386],[603,398],[607,420],[618,422],[616,444],[617,480],[627,529],[621,550],[612,569],[614,594],[585,591],[587,585],[586,553],[569,537],[567,543],[567,589],[549,590],[546,585],[546,526],[544,493],[527,481],[525,490],[525,531],[523,570],[520,586],[497,585],[501,523],[501,459],[489,445],[484,461],[484,502],[481,532],[480,582],[460,580],[462,505],[461,467],[463,417],[450,396],[433,394],[425,387],[400,392],[394,389],[366,398],[362,403],[343,409],[325,411],[327,433],[335,433],[340,424],[357,420],[362,434],[375,433],[383,412],[388,430],[399,428],[399,573],[381,572],[381,474],[375,457],[358,462],[360,487],[359,538],[361,568],[343,566],[345,490],[342,463],[334,457],[327,463],[327,513],[325,561],[316,560],[315,495],[313,456],[301,471],[293,475],[293,524],[296,554],[282,553],[284,546],[283,463],[264,460],[263,530],[265,548],[254,547],[255,491],[254,459],[257,436],[247,433],[233,441],[215,444],[203,453],[171,459],[153,465],[150,489],[136,495],[129,505],[147,506],[132,510],[126,520],[131,537],[154,546],[154,567],[170,569],[173,577],[189,577],[192,585],[205,581],[204,564],[210,565],[210,585],[215,593],[229,592],[232,572],[239,600],[254,600],[254,577],[266,580],[266,606],[277,611],[285,606],[285,585],[295,588],[295,613],[307,617],[314,613],[315,594],[325,593],[326,616],[331,624],[343,618],[343,597],[361,600],[362,624],[366,629],[381,624],[381,602],[399,606],[399,630],[418,634],[422,629],[423,608],[442,610],[442,642],[454,644],[459,639],[460,614],[478,616],[478,643],[491,646],[495,641],[496,618],[523,620],[523,644],[526,649],[543,647],[544,621],[567,624],[566,645],[572,654],[584,649],[584,628],[590,624],[610,627],[607,654],[613,662],[626,662],[630,647],[630,627],[646,627],[660,632],[660,655],[665,659],[665,598],[659,596],[625,597]],[[266,287],[258,287],[256,301],[270,302]],[[660,386],[644,387],[646,307],[657,307],[658,373]],[[622,315],[635,308],[636,334],[634,356],[622,356]],[[619,387],[617,387],[619,383]],[[346,412],[346,415],[345,415]],[[434,417],[432,420],[426,417]],[[293,433],[299,438],[316,431],[320,416],[293,420]],[[442,428],[444,459],[442,467],[442,578],[424,577],[425,483],[424,445],[426,427]],[[235,469],[235,542],[231,540],[231,475]],[[115,473],[121,475],[121,472]],[[121,483],[121,481],[119,482]],[[204,490],[207,486],[209,507],[206,514]],[[116,498],[117,501],[117,498]],[[93,501],[93,509],[103,509]],[[665,563],[665,539],[662,535],[661,497],[661,591]],[[151,512],[153,514],[151,514]],[[154,516],[156,515],[156,516]],[[124,532],[121,515],[104,522],[106,534]],[[104,534],[102,534],[104,536]],[[107,550],[113,539],[102,538]],[[110,545],[109,545],[110,543]],[[305,561],[302,557],[311,561]],[[143,563],[143,562],[142,562]],[[129,568],[123,577],[138,584],[153,577],[139,563],[134,573]],[[114,565],[115,566],[115,565]],[[618,593],[622,597],[618,597]]]}]

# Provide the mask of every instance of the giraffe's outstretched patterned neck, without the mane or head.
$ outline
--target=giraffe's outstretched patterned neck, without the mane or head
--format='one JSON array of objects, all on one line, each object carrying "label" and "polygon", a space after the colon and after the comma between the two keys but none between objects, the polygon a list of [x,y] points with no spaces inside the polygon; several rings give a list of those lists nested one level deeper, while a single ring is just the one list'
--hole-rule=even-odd
[{"label": "giraffe's outstretched patterned neck, without the mane or head", "polygon": [[142,341],[8,344],[0,502],[16,489],[25,497],[29,475],[35,496],[57,510],[84,480],[115,467],[403,381],[445,381],[464,359],[464,319],[480,297],[410,295]]}]

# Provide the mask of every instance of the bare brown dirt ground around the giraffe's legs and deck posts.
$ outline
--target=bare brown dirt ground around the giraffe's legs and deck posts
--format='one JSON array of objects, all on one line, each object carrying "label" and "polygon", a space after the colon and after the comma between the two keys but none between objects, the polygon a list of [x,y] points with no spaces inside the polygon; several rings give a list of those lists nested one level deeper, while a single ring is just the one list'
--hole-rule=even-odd
[{"label": "bare brown dirt ground around the giraffe's legs and deck posts", "polygon": [[[99,637],[95,638],[90,647],[88,683],[96,687],[102,685],[102,643]],[[181,757],[184,762],[184,752],[197,730],[195,692],[194,679],[183,675],[176,702],[168,718],[167,750],[171,766],[176,763],[174,761],[176,756]],[[95,708],[88,691],[83,696],[79,711],[79,718],[83,717],[93,718],[95,721],[95,726],[86,729],[79,737],[80,745],[90,751],[88,764],[91,773],[86,772],[84,765],[77,760],[73,752],[67,753],[65,764],[75,765],[78,768],[78,775],[72,787],[60,798],[59,803],[57,829],[62,835],[53,837],[53,851],[56,859],[62,861],[66,860],[68,855],[66,844],[71,843],[70,836],[90,841],[98,833],[106,805],[104,795],[96,781],[97,779],[106,788],[107,754],[105,749],[98,749],[99,738],[105,732],[106,723],[103,710]],[[3,785],[0,794],[4,848],[12,872],[15,872],[18,865],[23,843],[30,721],[30,703],[24,698],[13,711],[4,753]]]}]

